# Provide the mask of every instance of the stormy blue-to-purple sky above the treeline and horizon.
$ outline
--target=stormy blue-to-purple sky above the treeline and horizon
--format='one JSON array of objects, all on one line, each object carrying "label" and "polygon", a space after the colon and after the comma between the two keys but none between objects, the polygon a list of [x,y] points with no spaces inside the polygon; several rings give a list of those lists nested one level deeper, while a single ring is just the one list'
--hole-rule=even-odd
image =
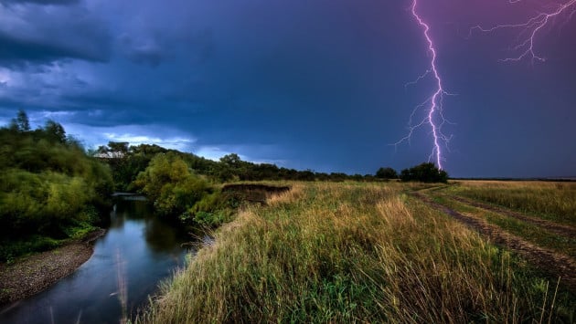
[{"label": "stormy blue-to-purple sky above the treeline and horizon", "polygon": [[[503,61],[529,31],[470,32],[570,3],[420,0],[448,93],[451,176],[576,175],[576,5],[535,35],[545,61]],[[432,153],[430,125],[394,145],[435,91],[430,75],[410,83],[431,64],[422,32],[411,0],[0,0],[0,125],[22,109],[87,148],[401,170]]]}]

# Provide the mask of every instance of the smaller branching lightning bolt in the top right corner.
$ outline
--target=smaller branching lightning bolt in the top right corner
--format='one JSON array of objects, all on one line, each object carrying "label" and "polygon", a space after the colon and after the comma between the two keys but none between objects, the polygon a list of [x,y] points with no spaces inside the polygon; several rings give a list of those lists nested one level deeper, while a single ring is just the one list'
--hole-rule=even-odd
[{"label": "smaller branching lightning bolt in the top right corner", "polygon": [[[516,4],[521,2],[521,0],[509,0],[510,4]],[[553,11],[539,12],[535,16],[530,16],[528,20],[519,24],[507,24],[507,25],[496,25],[489,28],[483,26],[474,26],[470,29],[469,36],[472,36],[475,30],[490,33],[497,29],[517,29],[517,45],[512,47],[512,50],[517,51],[516,57],[502,58],[500,61],[510,62],[510,61],[520,61],[526,57],[529,57],[532,61],[538,60],[541,62],[546,61],[546,58],[540,57],[534,49],[534,41],[536,40],[539,32],[558,16],[567,14],[570,20],[572,16],[576,13],[576,0],[570,0],[564,4],[555,5],[556,8]]]}]

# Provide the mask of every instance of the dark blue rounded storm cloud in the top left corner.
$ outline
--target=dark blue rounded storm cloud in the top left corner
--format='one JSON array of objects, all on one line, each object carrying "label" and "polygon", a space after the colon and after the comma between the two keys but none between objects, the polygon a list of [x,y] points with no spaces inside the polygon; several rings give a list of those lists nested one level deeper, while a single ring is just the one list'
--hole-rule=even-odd
[{"label": "dark blue rounded storm cloud in the top left corner", "polygon": [[59,59],[105,62],[111,56],[112,37],[98,17],[85,8],[12,8],[0,22],[0,65],[24,67]]}]

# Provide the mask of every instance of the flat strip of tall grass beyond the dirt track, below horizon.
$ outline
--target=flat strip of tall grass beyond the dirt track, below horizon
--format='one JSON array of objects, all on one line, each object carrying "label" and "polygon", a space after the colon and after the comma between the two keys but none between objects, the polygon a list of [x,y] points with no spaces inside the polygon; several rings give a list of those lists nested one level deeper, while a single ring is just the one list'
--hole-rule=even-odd
[{"label": "flat strip of tall grass beyond the dirt track, below horizon", "polygon": [[462,181],[453,193],[576,225],[576,183]]}]

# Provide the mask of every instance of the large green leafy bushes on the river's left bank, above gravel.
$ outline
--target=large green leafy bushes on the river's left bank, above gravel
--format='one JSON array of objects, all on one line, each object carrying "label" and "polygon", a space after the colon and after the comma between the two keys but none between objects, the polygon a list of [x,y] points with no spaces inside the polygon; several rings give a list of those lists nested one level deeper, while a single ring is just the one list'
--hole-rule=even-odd
[{"label": "large green leafy bushes on the river's left bank, above gravel", "polygon": [[0,260],[93,229],[111,191],[108,166],[88,157],[53,120],[30,131],[21,110],[0,128]]}]

